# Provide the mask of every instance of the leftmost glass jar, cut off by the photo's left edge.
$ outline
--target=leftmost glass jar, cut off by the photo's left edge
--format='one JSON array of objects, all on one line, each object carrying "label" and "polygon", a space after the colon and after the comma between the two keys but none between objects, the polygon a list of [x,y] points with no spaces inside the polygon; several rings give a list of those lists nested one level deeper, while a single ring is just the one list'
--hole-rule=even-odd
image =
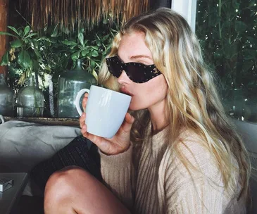
[{"label": "leftmost glass jar, cut off by the photo's left edge", "polygon": [[4,74],[0,74],[0,115],[13,116],[14,92],[6,84]]}]

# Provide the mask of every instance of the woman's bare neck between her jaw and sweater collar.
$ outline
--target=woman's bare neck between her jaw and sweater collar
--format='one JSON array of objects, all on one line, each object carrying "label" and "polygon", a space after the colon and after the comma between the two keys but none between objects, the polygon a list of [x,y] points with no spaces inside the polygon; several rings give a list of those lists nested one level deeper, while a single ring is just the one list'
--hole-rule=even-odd
[{"label": "woman's bare neck between her jaw and sweater collar", "polygon": [[166,101],[163,99],[163,101],[156,103],[155,105],[148,108],[153,132],[163,130],[163,128],[165,128],[170,122],[168,120],[169,117],[167,115],[165,106]]}]

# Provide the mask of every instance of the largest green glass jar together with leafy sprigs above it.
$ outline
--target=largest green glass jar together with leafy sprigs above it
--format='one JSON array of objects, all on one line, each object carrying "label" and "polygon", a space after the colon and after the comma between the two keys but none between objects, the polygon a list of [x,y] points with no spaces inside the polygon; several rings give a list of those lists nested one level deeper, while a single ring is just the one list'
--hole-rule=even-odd
[{"label": "largest green glass jar together with leafy sprigs above it", "polygon": [[99,37],[96,33],[86,38],[82,29],[75,39],[62,41],[70,49],[70,58],[75,66],[72,70],[61,73],[58,78],[58,118],[80,117],[76,110],[75,98],[81,89],[89,89],[92,84],[97,84],[96,71],[109,50],[111,37],[111,33],[104,37]]}]

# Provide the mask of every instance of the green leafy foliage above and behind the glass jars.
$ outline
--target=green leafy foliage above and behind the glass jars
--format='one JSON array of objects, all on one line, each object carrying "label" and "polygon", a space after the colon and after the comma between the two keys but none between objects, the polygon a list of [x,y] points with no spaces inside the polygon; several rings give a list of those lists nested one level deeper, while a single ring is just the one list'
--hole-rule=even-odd
[{"label": "green leafy foliage above and behind the glass jars", "polygon": [[[8,65],[8,81],[17,91],[25,85],[25,77],[35,73],[37,86],[44,92],[44,115],[50,116],[49,99],[54,99],[56,107],[59,75],[75,68],[75,61],[81,59],[85,70],[97,79],[101,61],[108,53],[111,39],[118,27],[115,24],[110,27],[103,22],[91,31],[82,29],[60,32],[56,25],[45,27],[37,33],[32,32],[29,26],[8,28],[12,33],[0,32],[13,39],[1,60],[1,65]],[[54,90],[49,89],[49,78],[54,83]]]}]

